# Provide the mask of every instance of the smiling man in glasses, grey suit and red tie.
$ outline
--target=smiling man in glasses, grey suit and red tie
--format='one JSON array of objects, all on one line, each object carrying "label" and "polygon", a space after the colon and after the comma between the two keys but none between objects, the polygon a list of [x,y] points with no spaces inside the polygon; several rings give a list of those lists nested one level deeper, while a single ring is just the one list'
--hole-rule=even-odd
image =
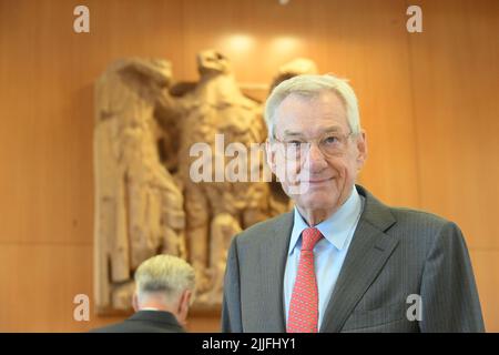
[{"label": "smiling man in glasses, grey suit and red tie", "polygon": [[344,80],[298,75],[265,108],[267,161],[291,213],[235,236],[224,332],[482,332],[459,227],[356,185],[367,156]]}]

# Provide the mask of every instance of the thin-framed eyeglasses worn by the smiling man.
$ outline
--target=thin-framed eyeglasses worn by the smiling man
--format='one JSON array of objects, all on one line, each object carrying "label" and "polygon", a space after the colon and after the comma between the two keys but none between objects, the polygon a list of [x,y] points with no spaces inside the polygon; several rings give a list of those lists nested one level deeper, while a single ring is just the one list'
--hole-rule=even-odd
[{"label": "thin-framed eyeglasses worn by the smiling man", "polygon": [[339,156],[345,153],[348,144],[348,139],[354,135],[354,132],[348,134],[342,134],[339,132],[332,132],[322,135],[315,140],[303,140],[299,138],[289,138],[279,140],[273,138],[274,141],[281,143],[284,149],[284,156],[286,160],[299,160],[302,156],[306,156],[315,142],[324,156]]}]

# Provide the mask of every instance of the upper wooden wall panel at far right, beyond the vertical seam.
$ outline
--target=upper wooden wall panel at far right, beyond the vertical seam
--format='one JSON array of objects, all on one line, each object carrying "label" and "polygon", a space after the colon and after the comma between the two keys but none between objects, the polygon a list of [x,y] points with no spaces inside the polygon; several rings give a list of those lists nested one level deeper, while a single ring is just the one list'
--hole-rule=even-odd
[{"label": "upper wooden wall panel at far right, beyond the vertical seam", "polygon": [[499,3],[425,1],[409,36],[422,207],[456,221],[471,248],[497,248]]}]

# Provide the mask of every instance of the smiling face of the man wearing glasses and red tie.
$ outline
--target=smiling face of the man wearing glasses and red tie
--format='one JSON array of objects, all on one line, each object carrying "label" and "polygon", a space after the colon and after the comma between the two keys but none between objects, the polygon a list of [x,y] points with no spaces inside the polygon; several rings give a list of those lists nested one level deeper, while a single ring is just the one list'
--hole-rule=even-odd
[{"label": "smiling face of the man wearing glasses and red tie", "polygon": [[[349,133],[345,104],[334,92],[325,91],[313,98],[292,93],[278,105],[275,138],[292,144],[314,142],[299,163],[283,158],[283,144],[267,144],[271,168],[298,207],[334,212],[349,196],[367,153],[365,133]],[[335,136],[345,139],[332,154],[332,145],[327,144]],[[320,148],[319,142],[324,143]]]}]

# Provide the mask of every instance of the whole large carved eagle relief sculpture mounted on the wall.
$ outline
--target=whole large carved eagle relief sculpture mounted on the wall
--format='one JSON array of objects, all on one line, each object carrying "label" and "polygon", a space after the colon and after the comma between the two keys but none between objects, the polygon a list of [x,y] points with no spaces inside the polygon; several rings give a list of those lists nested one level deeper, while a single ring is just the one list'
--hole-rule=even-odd
[{"label": "whole large carved eagle relief sculpture mounted on the wall", "polygon": [[[191,148],[230,163],[222,145],[263,143],[262,103],[246,97],[223,54],[197,55],[200,81],[174,82],[165,60],[124,59],[95,85],[95,302],[100,313],[131,306],[133,273],[145,258],[174,254],[196,270],[200,308],[220,306],[228,245],[243,229],[289,209],[281,186],[227,176],[193,181]],[[273,80],[314,71],[299,59]],[[272,85],[271,85],[272,87]],[[234,153],[235,154],[235,153]],[[264,156],[244,169],[262,176]],[[241,168],[240,165],[238,168]],[[220,176],[218,176],[220,178]]]}]

